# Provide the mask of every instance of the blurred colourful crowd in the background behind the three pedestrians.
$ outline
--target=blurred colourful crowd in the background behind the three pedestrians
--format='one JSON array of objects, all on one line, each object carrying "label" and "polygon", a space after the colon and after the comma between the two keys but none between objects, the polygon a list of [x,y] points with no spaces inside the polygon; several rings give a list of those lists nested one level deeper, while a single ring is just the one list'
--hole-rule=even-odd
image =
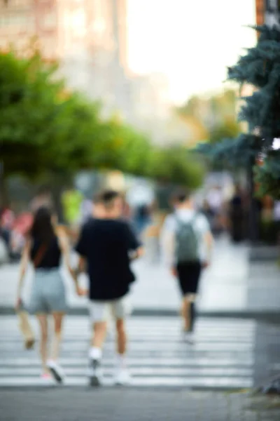
[{"label": "blurred colourful crowd in the background behind the three pedestrians", "polygon": [[[130,220],[144,241],[152,241],[156,253],[165,216],[172,212],[170,197],[174,186],[139,178],[111,175],[77,175],[72,187],[62,187],[58,203],[50,187],[11,185],[10,203],[1,208],[2,261],[20,258],[25,235],[31,227],[33,213],[40,206],[55,208],[59,225],[69,233],[72,243],[87,218],[92,215],[92,198],[102,187],[117,189],[123,194],[123,217]],[[215,236],[227,234],[232,243],[250,237],[249,213],[251,198],[244,183],[237,184],[229,173],[211,173],[202,188],[194,192],[197,210],[207,216]],[[280,202],[258,200],[258,231],[260,243],[276,244],[280,232]]]}]

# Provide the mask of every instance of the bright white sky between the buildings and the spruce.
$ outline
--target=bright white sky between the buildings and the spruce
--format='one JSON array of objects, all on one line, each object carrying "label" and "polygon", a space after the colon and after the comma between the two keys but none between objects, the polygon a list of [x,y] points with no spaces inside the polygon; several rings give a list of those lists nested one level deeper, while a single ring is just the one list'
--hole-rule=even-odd
[{"label": "bright white sky between the buildings and the spruce", "polygon": [[255,43],[255,0],[127,0],[134,72],[165,73],[170,96],[221,88],[227,66]]}]

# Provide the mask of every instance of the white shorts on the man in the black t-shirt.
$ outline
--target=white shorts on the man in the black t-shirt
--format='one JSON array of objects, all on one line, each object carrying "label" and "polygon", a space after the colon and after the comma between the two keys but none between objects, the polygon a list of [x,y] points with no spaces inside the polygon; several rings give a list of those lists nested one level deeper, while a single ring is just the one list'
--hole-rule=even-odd
[{"label": "white shorts on the man in the black t-shirt", "polygon": [[132,312],[127,296],[112,301],[90,300],[90,319],[93,323],[113,319],[125,319]]}]

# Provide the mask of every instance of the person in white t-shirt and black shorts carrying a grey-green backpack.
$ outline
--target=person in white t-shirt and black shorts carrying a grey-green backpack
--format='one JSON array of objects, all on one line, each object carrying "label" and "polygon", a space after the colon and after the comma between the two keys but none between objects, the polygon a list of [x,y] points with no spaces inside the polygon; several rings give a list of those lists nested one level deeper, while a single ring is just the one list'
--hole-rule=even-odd
[{"label": "person in white t-shirt and black shorts carrying a grey-green backpack", "polygon": [[200,274],[210,264],[213,236],[207,218],[196,212],[188,192],[177,192],[173,205],[175,211],[162,227],[162,249],[172,275],[179,281],[183,333],[190,340]]}]

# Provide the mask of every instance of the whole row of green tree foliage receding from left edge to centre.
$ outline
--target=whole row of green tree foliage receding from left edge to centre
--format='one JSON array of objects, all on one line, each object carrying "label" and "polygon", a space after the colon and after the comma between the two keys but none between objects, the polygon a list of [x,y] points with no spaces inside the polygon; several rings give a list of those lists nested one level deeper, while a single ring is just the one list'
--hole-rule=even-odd
[{"label": "whole row of green tree foliage receding from left edge to centre", "polygon": [[0,145],[4,177],[67,178],[80,169],[124,173],[197,187],[203,168],[186,149],[155,147],[142,133],[100,105],[66,91],[57,65],[35,52],[18,58],[0,53]]}]

